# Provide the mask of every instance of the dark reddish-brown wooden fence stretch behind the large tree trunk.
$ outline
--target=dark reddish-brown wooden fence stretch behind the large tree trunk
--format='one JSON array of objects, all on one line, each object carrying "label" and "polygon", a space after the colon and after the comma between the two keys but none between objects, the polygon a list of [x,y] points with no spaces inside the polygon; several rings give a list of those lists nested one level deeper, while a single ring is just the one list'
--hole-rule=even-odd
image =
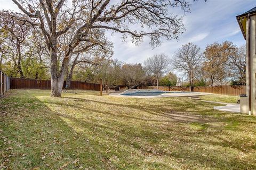
[{"label": "dark reddish-brown wooden fence stretch behind the large tree trunk", "polygon": [[[66,87],[66,81],[63,83],[63,89]],[[11,89],[51,89],[51,80],[34,80],[10,78]],[[100,84],[87,83],[82,81],[71,81],[70,89],[77,90],[100,90]]]}]

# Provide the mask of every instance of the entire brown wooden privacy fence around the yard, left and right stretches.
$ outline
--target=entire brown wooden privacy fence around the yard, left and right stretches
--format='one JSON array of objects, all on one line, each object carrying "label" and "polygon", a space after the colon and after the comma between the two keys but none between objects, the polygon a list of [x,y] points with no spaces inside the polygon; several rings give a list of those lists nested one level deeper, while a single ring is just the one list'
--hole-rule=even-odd
[{"label": "entire brown wooden privacy fence around the yard, left and right stretches", "polygon": [[[1,72],[1,71],[0,71]],[[51,89],[51,80],[34,80],[34,79],[19,79],[9,78],[1,72],[0,81],[0,95],[4,96],[5,92],[11,89]],[[64,81],[63,89],[66,87],[66,81]],[[78,90],[97,90],[100,91],[100,84],[87,83],[82,81],[71,81],[70,89]],[[138,89],[157,89],[156,86],[138,86]],[[159,90],[164,91],[189,91],[189,87],[158,87]],[[238,96],[240,94],[246,94],[246,86],[209,86],[209,87],[194,87],[195,92],[210,92],[213,94]]]}]

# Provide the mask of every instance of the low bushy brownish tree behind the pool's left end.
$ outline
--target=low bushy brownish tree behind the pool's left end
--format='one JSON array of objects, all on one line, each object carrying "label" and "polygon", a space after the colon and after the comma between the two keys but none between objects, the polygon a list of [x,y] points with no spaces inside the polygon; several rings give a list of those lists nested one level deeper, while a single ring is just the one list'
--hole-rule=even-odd
[{"label": "low bushy brownish tree behind the pool's left end", "polygon": [[122,78],[130,89],[133,89],[145,81],[146,73],[141,64],[124,64],[122,66]]}]

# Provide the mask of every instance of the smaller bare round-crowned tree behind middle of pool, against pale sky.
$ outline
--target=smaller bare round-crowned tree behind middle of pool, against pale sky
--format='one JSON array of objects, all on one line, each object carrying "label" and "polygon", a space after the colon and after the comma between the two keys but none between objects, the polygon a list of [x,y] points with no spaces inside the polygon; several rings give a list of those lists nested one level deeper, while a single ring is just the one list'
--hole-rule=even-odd
[{"label": "smaller bare round-crowned tree behind middle of pool, against pale sky", "polygon": [[164,73],[168,71],[168,66],[170,64],[170,59],[165,54],[154,55],[153,57],[148,58],[145,62],[146,71],[156,77],[157,88],[158,80],[162,77]]}]

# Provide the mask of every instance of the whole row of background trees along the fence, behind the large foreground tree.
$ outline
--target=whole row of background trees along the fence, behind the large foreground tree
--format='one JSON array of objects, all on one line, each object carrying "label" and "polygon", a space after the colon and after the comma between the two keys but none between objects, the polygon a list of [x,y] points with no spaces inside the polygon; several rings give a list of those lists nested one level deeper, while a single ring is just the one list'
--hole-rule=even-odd
[{"label": "whole row of background trees along the fence, behind the large foreground tree", "polygon": [[[204,50],[188,43],[171,57],[158,54],[143,63],[129,64],[111,60],[113,44],[103,30],[95,29],[87,35],[90,42],[79,42],[65,59],[62,56],[68,53],[70,39],[76,36],[70,28],[60,35],[58,57],[52,58],[47,43],[42,41],[42,30],[30,24],[28,16],[10,11],[1,11],[0,16],[0,70],[10,77],[51,79],[54,63],[55,71],[67,80],[67,88],[71,80],[99,83],[100,79],[108,80],[109,87],[175,86],[178,79],[175,73],[184,77],[183,86],[191,90],[195,86],[246,83],[246,48],[230,41],[207,45]],[[62,72],[64,60],[68,60],[68,64]]]}]

